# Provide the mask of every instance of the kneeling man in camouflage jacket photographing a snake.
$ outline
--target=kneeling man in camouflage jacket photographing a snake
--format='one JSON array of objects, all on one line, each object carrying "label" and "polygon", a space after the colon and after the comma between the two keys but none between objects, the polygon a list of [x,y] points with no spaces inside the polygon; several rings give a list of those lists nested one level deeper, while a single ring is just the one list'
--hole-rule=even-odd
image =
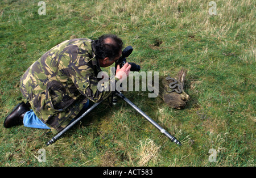
[{"label": "kneeling man in camouflage jacket photographing a snake", "polygon": [[[108,67],[118,60],[122,45],[119,37],[103,35],[94,41],[63,41],[50,49],[20,78],[20,91],[28,102],[16,105],[5,119],[5,128],[24,124],[31,128],[51,129],[56,134],[82,108],[88,107],[89,100],[98,102],[108,98],[110,90],[97,89],[97,74],[100,67]],[[115,82],[127,77],[130,68],[129,63],[121,69],[118,65],[113,78]]]}]

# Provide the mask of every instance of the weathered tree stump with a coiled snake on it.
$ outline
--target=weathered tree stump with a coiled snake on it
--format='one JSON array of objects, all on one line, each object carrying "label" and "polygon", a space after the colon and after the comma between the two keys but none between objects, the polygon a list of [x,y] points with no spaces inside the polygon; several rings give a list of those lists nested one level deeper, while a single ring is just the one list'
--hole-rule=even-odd
[{"label": "weathered tree stump with a coiled snake on it", "polygon": [[182,67],[174,78],[171,78],[169,75],[160,77],[159,97],[171,108],[183,109],[189,99],[188,94],[184,92],[186,75],[187,70]]}]

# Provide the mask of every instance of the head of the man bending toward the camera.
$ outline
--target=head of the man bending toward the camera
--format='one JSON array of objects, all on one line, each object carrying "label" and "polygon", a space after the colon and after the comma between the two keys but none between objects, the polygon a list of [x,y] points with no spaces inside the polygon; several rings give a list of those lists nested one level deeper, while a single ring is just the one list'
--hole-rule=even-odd
[{"label": "head of the man bending toward the camera", "polygon": [[115,35],[102,35],[93,45],[101,67],[112,65],[122,54],[123,42]]}]

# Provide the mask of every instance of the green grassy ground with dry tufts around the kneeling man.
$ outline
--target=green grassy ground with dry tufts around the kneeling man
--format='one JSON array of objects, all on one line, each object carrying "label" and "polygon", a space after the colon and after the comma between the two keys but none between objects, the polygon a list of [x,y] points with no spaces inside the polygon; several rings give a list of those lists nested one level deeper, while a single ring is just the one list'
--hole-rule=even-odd
[{"label": "green grassy ground with dry tufts around the kneeling man", "polygon": [[[183,110],[147,92],[126,92],[167,137],[121,99],[75,125],[54,145],[47,130],[0,126],[0,166],[255,166],[255,1],[0,2],[0,123],[23,100],[19,78],[64,40],[114,33],[142,71],[176,75],[188,69]],[[38,162],[39,149],[46,162]],[[215,149],[216,162],[209,162]]]}]

